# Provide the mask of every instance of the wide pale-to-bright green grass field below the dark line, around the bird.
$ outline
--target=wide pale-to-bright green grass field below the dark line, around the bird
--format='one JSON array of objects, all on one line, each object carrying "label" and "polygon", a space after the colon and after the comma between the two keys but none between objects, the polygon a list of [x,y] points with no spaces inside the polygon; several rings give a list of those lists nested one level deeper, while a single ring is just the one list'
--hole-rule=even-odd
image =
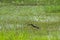
[{"label": "wide pale-to-bright green grass field below the dark line, around the bird", "polygon": [[58,10],[59,6],[0,6],[0,40],[60,40]]}]

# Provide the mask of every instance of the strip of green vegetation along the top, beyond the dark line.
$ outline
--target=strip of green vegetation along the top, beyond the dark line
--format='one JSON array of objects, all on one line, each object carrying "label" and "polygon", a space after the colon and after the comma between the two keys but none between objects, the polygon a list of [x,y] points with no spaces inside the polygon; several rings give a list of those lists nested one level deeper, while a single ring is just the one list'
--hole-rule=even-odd
[{"label": "strip of green vegetation along the top, beyond the dark line", "polygon": [[60,5],[60,0],[0,0],[0,2],[12,4],[37,4],[37,5]]}]

